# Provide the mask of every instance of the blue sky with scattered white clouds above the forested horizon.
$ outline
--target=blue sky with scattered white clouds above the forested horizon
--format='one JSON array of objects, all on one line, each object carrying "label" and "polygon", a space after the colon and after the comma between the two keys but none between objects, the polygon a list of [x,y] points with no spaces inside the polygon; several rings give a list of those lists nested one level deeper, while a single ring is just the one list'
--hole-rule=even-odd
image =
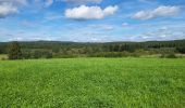
[{"label": "blue sky with scattered white clouds above the forested horizon", "polygon": [[185,0],[0,0],[0,41],[185,39]]}]

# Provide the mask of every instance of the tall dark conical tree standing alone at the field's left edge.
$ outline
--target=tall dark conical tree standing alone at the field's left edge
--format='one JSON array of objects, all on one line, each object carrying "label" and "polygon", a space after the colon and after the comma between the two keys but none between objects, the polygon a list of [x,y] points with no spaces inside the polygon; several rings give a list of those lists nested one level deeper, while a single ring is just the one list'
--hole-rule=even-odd
[{"label": "tall dark conical tree standing alone at the field's left edge", "polygon": [[9,59],[22,59],[22,52],[18,42],[14,41],[9,48]]}]

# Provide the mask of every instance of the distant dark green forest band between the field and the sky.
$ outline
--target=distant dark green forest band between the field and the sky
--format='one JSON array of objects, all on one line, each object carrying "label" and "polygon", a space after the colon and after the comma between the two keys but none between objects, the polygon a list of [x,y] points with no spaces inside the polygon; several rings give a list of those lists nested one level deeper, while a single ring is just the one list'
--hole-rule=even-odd
[{"label": "distant dark green forest band between the field and the sky", "polygon": [[[0,54],[9,54],[11,42],[0,42]],[[185,40],[148,42],[81,43],[59,41],[18,42],[22,58],[127,57],[185,54]]]}]

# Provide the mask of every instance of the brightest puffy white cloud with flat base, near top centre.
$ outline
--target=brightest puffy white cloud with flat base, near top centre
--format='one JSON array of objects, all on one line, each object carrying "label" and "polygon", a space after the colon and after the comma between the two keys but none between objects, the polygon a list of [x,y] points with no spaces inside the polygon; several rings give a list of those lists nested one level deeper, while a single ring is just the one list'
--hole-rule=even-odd
[{"label": "brightest puffy white cloud with flat base, near top centre", "polygon": [[112,15],[118,11],[118,6],[107,6],[104,10],[100,6],[81,5],[74,9],[65,10],[65,17],[72,19],[101,19],[108,15]]}]

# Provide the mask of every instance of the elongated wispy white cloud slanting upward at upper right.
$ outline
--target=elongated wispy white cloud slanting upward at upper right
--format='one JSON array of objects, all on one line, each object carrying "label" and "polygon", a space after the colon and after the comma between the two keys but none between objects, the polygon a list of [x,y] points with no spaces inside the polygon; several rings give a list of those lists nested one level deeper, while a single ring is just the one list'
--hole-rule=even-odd
[{"label": "elongated wispy white cloud slanting upward at upper right", "polygon": [[139,11],[136,14],[134,14],[134,18],[137,19],[151,19],[160,16],[172,16],[180,12],[180,6],[158,6],[155,10],[150,11]]}]

